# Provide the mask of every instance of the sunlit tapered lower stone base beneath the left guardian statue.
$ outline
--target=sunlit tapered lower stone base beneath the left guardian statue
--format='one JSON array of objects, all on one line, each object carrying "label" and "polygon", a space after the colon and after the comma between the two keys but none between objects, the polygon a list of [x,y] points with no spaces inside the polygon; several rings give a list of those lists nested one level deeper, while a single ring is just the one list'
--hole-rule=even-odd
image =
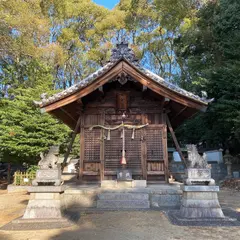
[{"label": "sunlit tapered lower stone base beneath the left guardian statue", "polygon": [[32,186],[22,219],[61,219],[61,194],[65,186]]}]

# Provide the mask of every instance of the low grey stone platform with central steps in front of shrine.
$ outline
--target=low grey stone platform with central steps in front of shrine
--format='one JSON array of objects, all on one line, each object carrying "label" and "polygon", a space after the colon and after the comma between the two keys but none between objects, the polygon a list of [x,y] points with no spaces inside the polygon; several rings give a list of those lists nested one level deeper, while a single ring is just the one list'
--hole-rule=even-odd
[{"label": "low grey stone platform with central steps in front of shrine", "polygon": [[[153,184],[146,187],[134,188],[78,185],[70,186],[65,190],[62,198],[62,206],[66,209],[94,209],[97,207],[99,209],[107,209],[107,206],[109,206],[109,209],[141,209],[148,207],[156,209],[179,209],[181,197],[182,190],[180,189],[180,184]],[[104,201],[105,203],[103,203]],[[118,207],[120,205],[122,207]]]}]

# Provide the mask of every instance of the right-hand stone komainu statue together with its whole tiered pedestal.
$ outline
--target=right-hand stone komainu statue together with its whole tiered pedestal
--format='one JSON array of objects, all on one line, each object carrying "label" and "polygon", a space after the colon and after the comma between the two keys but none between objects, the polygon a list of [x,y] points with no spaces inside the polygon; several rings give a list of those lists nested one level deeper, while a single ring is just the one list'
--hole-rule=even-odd
[{"label": "right-hand stone komainu statue together with its whole tiered pedestal", "polygon": [[217,195],[219,187],[211,178],[206,159],[198,154],[195,145],[187,145],[187,150],[188,168],[182,186],[180,217],[195,220],[224,218]]}]

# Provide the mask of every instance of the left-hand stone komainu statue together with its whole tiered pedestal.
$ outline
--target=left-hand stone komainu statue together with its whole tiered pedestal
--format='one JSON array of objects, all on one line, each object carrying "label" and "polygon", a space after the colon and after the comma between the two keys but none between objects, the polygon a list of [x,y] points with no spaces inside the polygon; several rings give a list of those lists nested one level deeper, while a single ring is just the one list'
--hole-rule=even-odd
[{"label": "left-hand stone komainu statue together with its whole tiered pedestal", "polygon": [[65,186],[61,183],[61,167],[58,164],[59,147],[52,146],[48,154],[39,161],[33,186],[28,190],[30,200],[22,220],[41,220],[62,218],[61,196]]}]

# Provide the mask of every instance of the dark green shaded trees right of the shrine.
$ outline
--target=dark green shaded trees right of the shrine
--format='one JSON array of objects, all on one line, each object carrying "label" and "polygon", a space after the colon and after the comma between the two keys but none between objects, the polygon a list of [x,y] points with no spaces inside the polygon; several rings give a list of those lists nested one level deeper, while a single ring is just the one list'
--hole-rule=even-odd
[{"label": "dark green shaded trees right of the shrine", "polygon": [[[206,114],[181,128],[195,125],[195,142],[230,147],[239,151],[240,113],[240,3],[220,0],[204,5],[197,14],[195,29],[176,41],[178,57],[187,69],[195,92],[205,90],[214,102]],[[205,132],[201,129],[204,127]],[[183,135],[182,135],[183,136]],[[194,135],[192,135],[194,136]]]}]

